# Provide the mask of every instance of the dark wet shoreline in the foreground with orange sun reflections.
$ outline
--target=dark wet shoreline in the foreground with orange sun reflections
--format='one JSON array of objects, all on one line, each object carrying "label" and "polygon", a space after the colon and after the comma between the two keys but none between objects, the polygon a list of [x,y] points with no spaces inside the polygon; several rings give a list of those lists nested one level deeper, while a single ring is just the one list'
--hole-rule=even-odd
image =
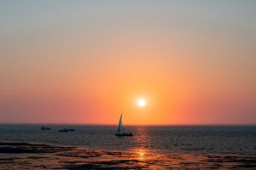
[{"label": "dark wet shoreline in the foreground with orange sun reflections", "polygon": [[0,142],[0,169],[216,169],[256,168],[256,156],[220,154],[156,154],[130,151]]}]

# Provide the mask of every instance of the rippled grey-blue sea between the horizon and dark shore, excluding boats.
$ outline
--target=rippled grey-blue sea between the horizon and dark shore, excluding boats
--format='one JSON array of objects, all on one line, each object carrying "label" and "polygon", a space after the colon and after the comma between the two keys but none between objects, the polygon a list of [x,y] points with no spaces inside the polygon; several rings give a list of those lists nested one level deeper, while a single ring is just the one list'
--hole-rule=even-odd
[{"label": "rippled grey-blue sea between the horizon and dark shore, excluding boats", "polygon": [[[114,126],[0,125],[0,141],[84,146],[96,150],[143,148],[160,153],[216,153],[256,156],[256,126],[126,127],[133,137],[114,136]],[[59,133],[63,127],[76,131]]]}]

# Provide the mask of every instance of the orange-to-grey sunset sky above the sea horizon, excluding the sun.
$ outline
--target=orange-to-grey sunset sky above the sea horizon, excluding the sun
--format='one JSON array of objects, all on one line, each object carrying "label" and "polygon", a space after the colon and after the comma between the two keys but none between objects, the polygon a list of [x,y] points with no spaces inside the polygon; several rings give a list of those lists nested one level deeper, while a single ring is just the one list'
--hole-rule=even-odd
[{"label": "orange-to-grey sunset sky above the sea horizon, excluding the sun", "polygon": [[0,122],[255,125],[255,16],[253,0],[0,1]]}]

